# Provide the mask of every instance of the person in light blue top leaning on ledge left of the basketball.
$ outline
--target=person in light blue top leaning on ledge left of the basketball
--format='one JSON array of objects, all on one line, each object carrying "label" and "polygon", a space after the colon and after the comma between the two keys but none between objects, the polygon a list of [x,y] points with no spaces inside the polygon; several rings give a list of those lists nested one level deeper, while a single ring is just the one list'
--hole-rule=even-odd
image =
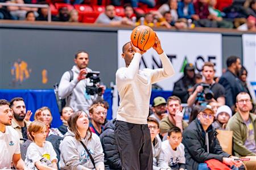
[{"label": "person in light blue top leaning on ledge left of the basketball", "polygon": [[106,6],[105,12],[98,16],[95,23],[110,25],[134,25],[134,23],[129,19],[115,15],[115,7],[113,5]]}]

